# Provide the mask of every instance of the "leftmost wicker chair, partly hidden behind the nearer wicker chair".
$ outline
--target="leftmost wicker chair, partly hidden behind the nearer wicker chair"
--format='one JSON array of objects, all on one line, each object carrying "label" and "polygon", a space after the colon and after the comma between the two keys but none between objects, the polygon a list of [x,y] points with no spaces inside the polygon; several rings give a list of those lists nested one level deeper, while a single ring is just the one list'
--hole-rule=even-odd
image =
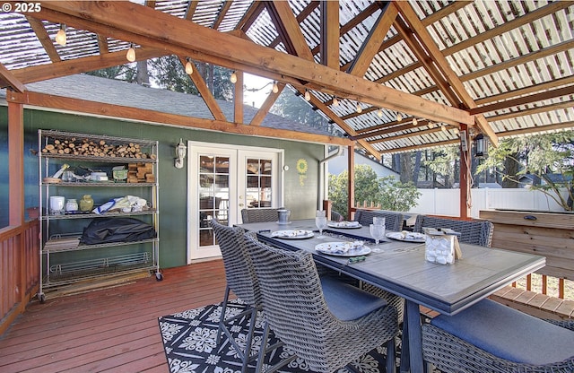
[{"label": "leftmost wicker chair, partly hidden behind the nearer wicker chair", "polygon": [[[257,311],[261,309],[261,292],[259,291],[255,268],[244,245],[244,230],[238,227],[222,225],[215,220],[211,221],[211,225],[217,244],[222,251],[225,279],[227,281],[222,303],[222,316],[220,317],[217,331],[217,344],[219,345],[221,342],[222,334],[225,334],[243,363],[241,371],[245,372],[248,368],[248,362],[257,358],[257,351],[252,355],[251,349]],[[230,291],[233,291],[239,299],[245,302],[247,307],[238,315],[225,318]],[[245,347],[241,348],[231,335],[227,325],[233,320],[246,316],[250,317],[249,329]]]}]

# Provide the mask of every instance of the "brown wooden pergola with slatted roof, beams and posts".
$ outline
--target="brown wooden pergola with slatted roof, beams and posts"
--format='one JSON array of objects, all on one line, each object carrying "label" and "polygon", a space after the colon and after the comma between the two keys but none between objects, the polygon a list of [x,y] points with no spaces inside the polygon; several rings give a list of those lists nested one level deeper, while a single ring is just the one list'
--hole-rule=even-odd
[{"label": "brown wooden pergola with slatted roof, beams and posts", "polygon": [[[232,121],[201,76],[189,74],[213,114],[195,120],[196,128],[361,147],[377,159],[458,144],[461,158],[469,160],[465,144],[473,134],[496,146],[502,136],[574,126],[570,1],[48,1],[26,9],[7,4],[12,12],[0,17],[0,85],[9,90],[15,175],[23,167],[17,146],[24,105],[190,126],[178,115],[27,89],[30,82],[126,64],[131,46],[136,60],[175,55],[183,65],[201,61],[237,72]],[[62,25],[65,46],[55,41]],[[272,79],[279,88],[250,123],[241,119],[242,73]],[[260,126],[286,85],[301,96],[309,92],[310,105],[344,136]],[[461,164],[466,217],[470,162]],[[352,201],[352,182],[350,191]],[[10,194],[22,201],[21,181],[11,178]],[[22,206],[11,205],[14,224],[22,221]]]}]

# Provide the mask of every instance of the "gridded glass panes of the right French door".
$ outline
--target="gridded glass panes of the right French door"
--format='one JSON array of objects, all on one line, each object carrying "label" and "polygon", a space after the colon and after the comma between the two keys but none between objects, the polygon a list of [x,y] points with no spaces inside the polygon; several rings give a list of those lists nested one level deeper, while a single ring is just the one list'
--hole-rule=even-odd
[{"label": "gridded glass panes of the right French door", "polygon": [[272,160],[248,158],[246,160],[246,206],[248,208],[272,205]]}]

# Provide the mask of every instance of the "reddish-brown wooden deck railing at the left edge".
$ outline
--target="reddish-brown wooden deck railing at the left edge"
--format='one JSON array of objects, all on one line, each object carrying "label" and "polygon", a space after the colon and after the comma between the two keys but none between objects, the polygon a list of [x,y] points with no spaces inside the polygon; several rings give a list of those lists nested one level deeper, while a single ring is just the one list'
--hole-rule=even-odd
[{"label": "reddish-brown wooden deck railing at the left edge", "polygon": [[39,221],[0,230],[0,334],[20,315],[39,286]]}]

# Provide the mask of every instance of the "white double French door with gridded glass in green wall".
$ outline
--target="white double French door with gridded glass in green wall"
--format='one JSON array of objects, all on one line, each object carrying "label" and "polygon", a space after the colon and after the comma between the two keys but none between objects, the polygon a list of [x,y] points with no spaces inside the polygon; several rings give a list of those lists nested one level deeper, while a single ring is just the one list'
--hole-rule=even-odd
[{"label": "white double French door with gridded glass in green wall", "polygon": [[241,209],[283,204],[283,150],[188,142],[187,263],[221,256],[209,221],[241,222]]}]

